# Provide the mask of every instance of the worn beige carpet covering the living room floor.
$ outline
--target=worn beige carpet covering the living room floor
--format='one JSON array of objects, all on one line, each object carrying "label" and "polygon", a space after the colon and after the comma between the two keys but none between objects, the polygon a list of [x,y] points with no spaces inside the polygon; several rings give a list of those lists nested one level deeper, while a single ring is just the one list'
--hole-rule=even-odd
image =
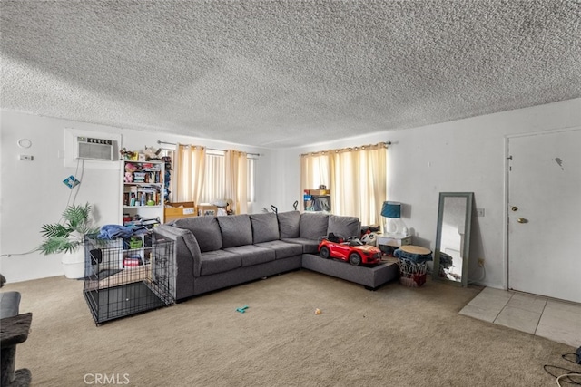
[{"label": "worn beige carpet covering the living room floor", "polygon": [[576,367],[572,347],[459,315],[479,288],[431,281],[371,292],[300,270],[101,326],[82,281],[8,290],[34,314],[16,362],[34,386],[550,386],[543,365]]}]

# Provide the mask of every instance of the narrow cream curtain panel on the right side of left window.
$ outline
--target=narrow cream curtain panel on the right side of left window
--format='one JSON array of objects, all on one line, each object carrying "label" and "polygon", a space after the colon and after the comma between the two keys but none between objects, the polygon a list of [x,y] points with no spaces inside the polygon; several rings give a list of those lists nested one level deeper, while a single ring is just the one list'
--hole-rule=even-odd
[{"label": "narrow cream curtain panel on the right side of left window", "polygon": [[231,208],[236,214],[248,212],[248,161],[247,154],[239,150],[226,150],[226,198],[232,199]]}]

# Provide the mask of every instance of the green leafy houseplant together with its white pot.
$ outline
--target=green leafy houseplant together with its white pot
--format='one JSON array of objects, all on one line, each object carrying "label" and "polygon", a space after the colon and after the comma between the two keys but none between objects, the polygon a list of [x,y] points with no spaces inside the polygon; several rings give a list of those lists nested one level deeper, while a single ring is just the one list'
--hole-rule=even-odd
[{"label": "green leafy houseplant together with its white pot", "polygon": [[67,278],[84,277],[84,237],[96,234],[100,227],[93,225],[92,207],[89,203],[71,205],[64,210],[58,223],[43,225],[43,243],[37,248],[45,256],[64,253],[63,267]]}]

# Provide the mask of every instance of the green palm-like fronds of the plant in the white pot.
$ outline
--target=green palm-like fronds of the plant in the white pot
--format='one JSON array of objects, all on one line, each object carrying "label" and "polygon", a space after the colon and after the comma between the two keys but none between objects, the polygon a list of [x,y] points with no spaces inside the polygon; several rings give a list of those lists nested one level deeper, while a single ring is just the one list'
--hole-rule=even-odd
[{"label": "green palm-like fronds of the plant in the white pot", "polygon": [[100,227],[94,227],[91,220],[92,207],[89,203],[72,205],[64,210],[64,223],[43,225],[43,243],[37,248],[45,256],[55,253],[72,253],[84,243],[84,236],[96,234]]}]

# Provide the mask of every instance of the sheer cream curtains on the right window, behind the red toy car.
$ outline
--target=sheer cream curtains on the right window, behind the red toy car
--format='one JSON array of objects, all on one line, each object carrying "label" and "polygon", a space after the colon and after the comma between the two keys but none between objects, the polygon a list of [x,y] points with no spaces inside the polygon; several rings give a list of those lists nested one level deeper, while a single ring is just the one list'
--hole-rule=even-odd
[{"label": "sheer cream curtains on the right window, behind the red toy car", "polygon": [[386,163],[385,142],[305,154],[300,159],[301,189],[324,184],[330,189],[331,213],[358,217],[362,225],[380,225],[387,192]]}]

